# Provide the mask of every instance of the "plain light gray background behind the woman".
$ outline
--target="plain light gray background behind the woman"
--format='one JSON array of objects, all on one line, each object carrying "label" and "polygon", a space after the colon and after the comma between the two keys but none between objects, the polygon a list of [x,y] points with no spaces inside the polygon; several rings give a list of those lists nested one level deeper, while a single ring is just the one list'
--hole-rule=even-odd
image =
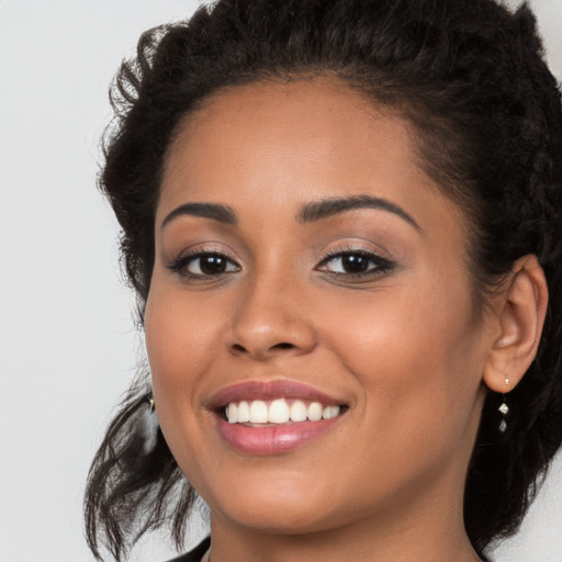
[{"label": "plain light gray background behind the woman", "polygon": [[[86,474],[142,346],[94,188],[108,85],[142,31],[198,3],[0,0],[0,562],[93,560]],[[562,0],[530,3],[560,78]],[[562,562],[561,531],[559,456],[495,560]],[[132,560],[170,555],[156,537]]]}]

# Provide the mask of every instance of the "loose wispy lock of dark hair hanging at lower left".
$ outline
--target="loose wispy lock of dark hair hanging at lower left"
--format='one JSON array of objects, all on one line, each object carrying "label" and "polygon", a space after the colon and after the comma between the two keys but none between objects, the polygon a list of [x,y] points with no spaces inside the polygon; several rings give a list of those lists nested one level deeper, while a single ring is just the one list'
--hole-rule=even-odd
[{"label": "loose wispy lock of dark hair hanging at lower left", "polygon": [[[85,504],[86,538],[101,560],[98,536],[115,560],[147,531],[169,524],[177,544],[184,515],[196,498],[173,460],[162,432],[148,422],[146,376],[138,376],[121,403],[90,468]],[[147,422],[149,426],[147,427]],[[147,435],[156,429],[154,435]],[[147,447],[147,441],[151,441]]]}]

